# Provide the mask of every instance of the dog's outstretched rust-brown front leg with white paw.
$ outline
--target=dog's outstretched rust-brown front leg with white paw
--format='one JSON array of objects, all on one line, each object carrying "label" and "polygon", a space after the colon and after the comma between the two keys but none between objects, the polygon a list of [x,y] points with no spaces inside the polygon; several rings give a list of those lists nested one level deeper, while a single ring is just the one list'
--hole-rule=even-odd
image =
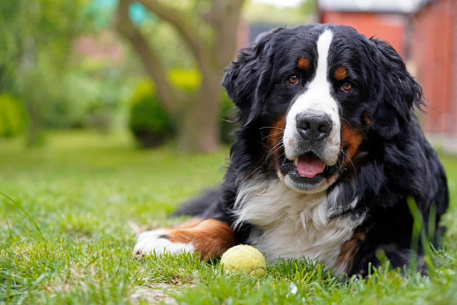
[{"label": "dog's outstretched rust-brown front leg with white paw", "polygon": [[199,252],[204,261],[220,257],[229,247],[236,244],[232,228],[216,219],[191,219],[174,229],[146,231],[138,236],[133,253],[147,255],[155,252],[179,254]]}]

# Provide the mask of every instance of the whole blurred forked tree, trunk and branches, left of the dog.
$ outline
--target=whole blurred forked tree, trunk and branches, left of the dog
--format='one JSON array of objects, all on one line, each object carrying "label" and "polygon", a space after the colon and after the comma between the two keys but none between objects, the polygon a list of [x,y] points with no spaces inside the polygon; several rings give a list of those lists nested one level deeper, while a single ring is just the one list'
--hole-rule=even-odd
[{"label": "whole blurred forked tree, trunk and branches, left of the dog", "polygon": [[[149,11],[174,26],[195,56],[202,83],[195,96],[188,96],[167,78],[154,46],[133,24],[128,9],[133,0],[119,0],[117,30],[132,44],[146,71],[154,80],[165,108],[180,122],[178,142],[186,151],[214,152],[219,145],[219,98],[223,68],[236,51],[237,28],[244,0],[213,0],[203,14],[190,14],[159,0],[139,0]],[[199,34],[202,25],[213,32],[209,38]]]}]

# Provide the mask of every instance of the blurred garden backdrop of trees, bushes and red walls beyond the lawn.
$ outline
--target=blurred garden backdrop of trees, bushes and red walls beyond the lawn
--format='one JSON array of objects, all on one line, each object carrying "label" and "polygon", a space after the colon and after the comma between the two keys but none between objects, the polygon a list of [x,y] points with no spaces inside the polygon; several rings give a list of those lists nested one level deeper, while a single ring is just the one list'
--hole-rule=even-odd
[{"label": "blurred garden backdrop of trees, bushes and red walls beyond the lawn", "polygon": [[456,0],[1,1],[0,145],[76,133],[218,151],[223,68],[261,32],[314,22],[390,42],[424,88],[425,132],[457,152]]}]

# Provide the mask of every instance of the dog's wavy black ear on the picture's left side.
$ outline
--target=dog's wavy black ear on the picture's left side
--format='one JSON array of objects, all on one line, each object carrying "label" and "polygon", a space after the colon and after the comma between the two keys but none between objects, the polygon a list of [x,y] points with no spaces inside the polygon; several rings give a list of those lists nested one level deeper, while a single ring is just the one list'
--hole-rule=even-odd
[{"label": "dog's wavy black ear on the picture's left side", "polygon": [[255,121],[262,111],[270,91],[272,67],[272,37],[281,28],[266,32],[253,45],[239,50],[236,61],[227,68],[222,80],[228,96],[241,111],[241,124]]}]

